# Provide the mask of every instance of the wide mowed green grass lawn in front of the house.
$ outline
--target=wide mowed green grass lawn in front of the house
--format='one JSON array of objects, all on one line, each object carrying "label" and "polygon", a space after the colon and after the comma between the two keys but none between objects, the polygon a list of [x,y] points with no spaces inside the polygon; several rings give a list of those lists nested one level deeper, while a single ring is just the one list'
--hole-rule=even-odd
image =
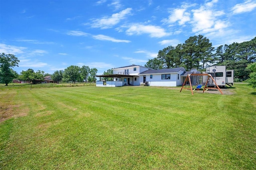
[{"label": "wide mowed green grass lawn in front of the house", "polygon": [[254,170],[256,89],[234,87],[0,86],[0,169]]}]

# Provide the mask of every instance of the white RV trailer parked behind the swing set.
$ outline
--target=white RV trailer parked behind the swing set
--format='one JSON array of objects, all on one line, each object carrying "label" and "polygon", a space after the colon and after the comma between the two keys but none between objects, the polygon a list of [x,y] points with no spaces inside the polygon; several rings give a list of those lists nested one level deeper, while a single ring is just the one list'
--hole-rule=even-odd
[{"label": "white RV trailer parked behind the swing set", "polygon": [[[234,84],[234,70],[226,70],[226,66],[209,66],[206,67],[206,73],[211,74],[216,84],[225,87]],[[212,80],[209,80],[208,86],[215,86]]]}]

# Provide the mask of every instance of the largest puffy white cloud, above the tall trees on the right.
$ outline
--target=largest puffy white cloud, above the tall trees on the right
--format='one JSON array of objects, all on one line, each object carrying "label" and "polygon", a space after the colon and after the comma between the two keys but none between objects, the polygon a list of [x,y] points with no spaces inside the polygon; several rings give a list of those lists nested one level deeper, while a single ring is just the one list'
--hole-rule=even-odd
[{"label": "largest puffy white cloud, above the tall trees on the right", "polygon": [[[191,26],[192,32],[196,34],[209,34],[210,32],[218,32],[227,28],[230,23],[221,17],[225,14],[222,10],[216,10],[218,0],[206,1],[200,6],[198,4],[183,4],[180,8],[170,9],[168,19],[163,19],[164,24],[169,26]],[[191,8],[193,7],[193,8]],[[185,25],[186,24],[186,25]],[[190,25],[189,25],[190,24]],[[182,30],[175,31],[173,34],[180,34]],[[161,44],[168,41],[160,42]]]}]

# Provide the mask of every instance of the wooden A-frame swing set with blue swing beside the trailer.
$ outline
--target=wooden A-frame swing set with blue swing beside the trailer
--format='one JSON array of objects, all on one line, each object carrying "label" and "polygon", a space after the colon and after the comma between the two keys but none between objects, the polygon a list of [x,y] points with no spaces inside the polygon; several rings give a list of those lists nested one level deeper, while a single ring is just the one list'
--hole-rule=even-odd
[{"label": "wooden A-frame swing set with blue swing beside the trailer", "polygon": [[[211,74],[194,74],[194,73],[188,74],[188,76],[186,77],[184,83],[182,84],[182,87],[181,87],[181,89],[180,89],[180,92],[181,92],[181,90],[182,90],[183,88],[184,88],[184,89],[189,89],[189,90],[191,90],[192,95],[194,95],[194,93],[193,93],[194,90],[193,90],[193,86],[192,86],[192,83],[191,83],[191,78],[190,78],[190,76],[196,76],[196,80],[198,80],[198,76],[208,76],[206,82],[205,82],[204,84],[202,84],[202,80],[201,80],[201,84],[198,84],[198,83],[197,83],[197,84],[196,84],[196,88],[194,88],[194,90],[195,90],[195,89],[196,89],[196,90],[199,90],[200,88],[202,88],[202,86],[204,86],[203,92],[206,91],[206,90],[208,90],[208,89],[214,89],[214,90],[216,90],[216,89],[218,88],[218,90],[220,91],[220,93],[223,94],[222,91],[220,90],[219,86],[218,86],[218,85],[216,84],[216,82],[214,81],[214,78],[212,78],[212,75],[211,75]],[[212,80],[212,81],[214,82],[214,84],[215,84],[214,88],[212,88],[212,87],[207,87],[207,84],[208,84],[210,78],[211,78],[211,80]],[[186,85],[187,85],[187,80],[189,81],[189,85],[190,85],[189,88],[186,87]],[[184,86],[185,86],[185,87],[184,87]]]}]

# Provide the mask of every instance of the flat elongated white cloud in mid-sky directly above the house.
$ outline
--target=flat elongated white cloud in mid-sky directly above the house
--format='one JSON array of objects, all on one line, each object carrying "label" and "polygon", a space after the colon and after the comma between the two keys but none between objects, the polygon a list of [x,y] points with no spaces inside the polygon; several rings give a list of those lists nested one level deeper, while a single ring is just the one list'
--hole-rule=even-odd
[{"label": "flat elongated white cloud in mid-sky directly above the house", "polygon": [[128,30],[126,30],[126,34],[149,34],[150,37],[161,38],[163,36],[168,36],[170,33],[165,32],[163,28],[160,26],[152,26],[152,25],[142,25],[142,24],[132,24]]}]

